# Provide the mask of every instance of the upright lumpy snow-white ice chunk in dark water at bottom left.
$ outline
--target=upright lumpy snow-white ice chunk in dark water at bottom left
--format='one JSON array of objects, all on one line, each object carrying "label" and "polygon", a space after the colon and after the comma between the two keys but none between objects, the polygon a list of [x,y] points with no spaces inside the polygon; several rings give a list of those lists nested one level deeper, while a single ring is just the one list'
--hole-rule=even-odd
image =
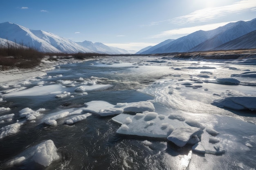
[{"label": "upright lumpy snow-white ice chunk in dark water at bottom left", "polygon": [[52,161],[59,159],[57,148],[52,140],[47,140],[36,148],[33,160],[43,166],[49,166]]}]

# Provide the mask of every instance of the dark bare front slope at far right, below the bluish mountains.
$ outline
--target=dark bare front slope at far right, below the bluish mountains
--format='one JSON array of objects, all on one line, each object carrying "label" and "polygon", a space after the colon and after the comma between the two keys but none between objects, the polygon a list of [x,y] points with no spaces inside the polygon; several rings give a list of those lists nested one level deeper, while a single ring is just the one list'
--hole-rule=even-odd
[{"label": "dark bare front slope at far right, below the bluish mountains", "polygon": [[247,33],[235,40],[229,41],[216,47],[213,50],[237,50],[237,49],[256,49],[256,30]]}]

